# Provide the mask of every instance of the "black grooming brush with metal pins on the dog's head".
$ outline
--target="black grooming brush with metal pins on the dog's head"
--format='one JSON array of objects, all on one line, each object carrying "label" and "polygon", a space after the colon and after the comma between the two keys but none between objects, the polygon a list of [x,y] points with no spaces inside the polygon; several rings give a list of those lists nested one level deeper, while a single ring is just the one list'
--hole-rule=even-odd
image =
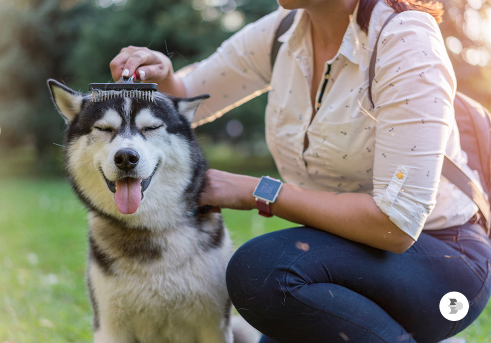
[{"label": "black grooming brush with metal pins on the dog's head", "polygon": [[92,102],[112,98],[137,98],[148,101],[154,100],[154,92],[158,90],[156,83],[135,83],[136,72],[130,77],[123,77],[115,83],[91,83]]}]

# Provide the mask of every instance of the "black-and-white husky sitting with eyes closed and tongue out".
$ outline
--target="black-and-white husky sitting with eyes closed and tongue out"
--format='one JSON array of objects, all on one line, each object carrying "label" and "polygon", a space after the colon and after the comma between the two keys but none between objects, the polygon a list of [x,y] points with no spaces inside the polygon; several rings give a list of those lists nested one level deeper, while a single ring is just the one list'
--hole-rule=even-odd
[{"label": "black-and-white husky sitting with eyes closed and tongue out", "polygon": [[68,125],[66,172],[89,210],[95,342],[232,343],[232,245],[221,216],[200,213],[206,164],[190,127],[209,96],[94,102],[48,84]]}]

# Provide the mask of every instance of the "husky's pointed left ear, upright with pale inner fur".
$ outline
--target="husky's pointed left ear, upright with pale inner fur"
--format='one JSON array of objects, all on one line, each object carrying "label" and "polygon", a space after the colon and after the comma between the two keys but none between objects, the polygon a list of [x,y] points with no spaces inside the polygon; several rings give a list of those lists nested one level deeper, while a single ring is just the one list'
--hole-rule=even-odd
[{"label": "husky's pointed left ear, upright with pale inner fur", "polygon": [[72,123],[82,108],[82,93],[75,92],[53,79],[48,80],[48,86],[59,113],[65,118],[67,124]]}]

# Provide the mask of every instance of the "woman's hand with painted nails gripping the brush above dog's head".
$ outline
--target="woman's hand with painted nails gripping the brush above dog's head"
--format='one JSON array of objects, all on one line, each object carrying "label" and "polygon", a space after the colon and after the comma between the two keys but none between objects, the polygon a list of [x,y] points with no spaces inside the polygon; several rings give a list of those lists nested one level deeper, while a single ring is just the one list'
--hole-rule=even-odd
[{"label": "woman's hand with painted nails gripping the brush above dog's head", "polygon": [[175,97],[186,97],[182,81],[174,77],[170,58],[162,52],[129,46],[121,49],[121,52],[112,59],[109,67],[114,81],[119,80],[121,76],[128,77],[136,72],[138,79],[157,83],[159,91]]}]

